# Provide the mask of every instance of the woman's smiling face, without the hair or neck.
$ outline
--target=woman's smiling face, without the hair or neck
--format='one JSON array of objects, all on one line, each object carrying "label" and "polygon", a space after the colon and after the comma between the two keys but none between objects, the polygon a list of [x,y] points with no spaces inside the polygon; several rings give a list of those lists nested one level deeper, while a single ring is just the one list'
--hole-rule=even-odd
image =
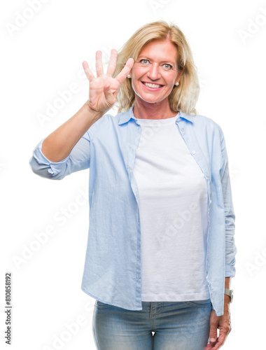
[{"label": "woman's smiling face, without the hair or neck", "polygon": [[177,68],[177,55],[176,46],[167,39],[144,46],[131,73],[136,98],[149,103],[167,99],[182,74]]}]

